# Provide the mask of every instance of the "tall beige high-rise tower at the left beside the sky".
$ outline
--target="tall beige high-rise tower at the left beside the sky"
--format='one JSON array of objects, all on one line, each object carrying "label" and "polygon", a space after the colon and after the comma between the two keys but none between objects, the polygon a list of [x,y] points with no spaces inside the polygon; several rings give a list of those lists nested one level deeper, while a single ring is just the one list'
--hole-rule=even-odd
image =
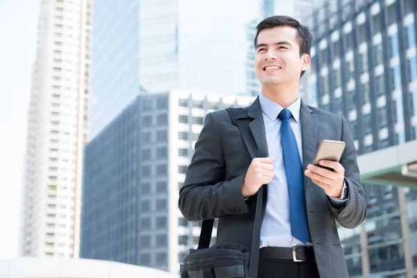
[{"label": "tall beige high-rise tower at the left beside the sky", "polygon": [[91,9],[91,0],[40,4],[22,191],[22,256],[79,256]]}]

